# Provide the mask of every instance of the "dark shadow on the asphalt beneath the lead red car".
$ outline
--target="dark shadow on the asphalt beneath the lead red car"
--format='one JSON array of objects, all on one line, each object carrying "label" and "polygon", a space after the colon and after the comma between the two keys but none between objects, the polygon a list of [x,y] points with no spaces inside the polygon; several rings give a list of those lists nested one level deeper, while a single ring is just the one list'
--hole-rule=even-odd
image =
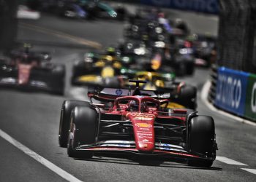
[{"label": "dark shadow on the asphalt beneath the lead red car", "polygon": [[200,170],[222,170],[220,167],[191,167],[187,165],[186,159],[154,159],[152,157],[129,157],[129,158],[116,158],[116,157],[93,157],[91,159],[76,159],[85,160],[90,162],[105,162],[111,164],[121,165],[142,165],[154,167],[170,167],[182,169],[200,169]]}]

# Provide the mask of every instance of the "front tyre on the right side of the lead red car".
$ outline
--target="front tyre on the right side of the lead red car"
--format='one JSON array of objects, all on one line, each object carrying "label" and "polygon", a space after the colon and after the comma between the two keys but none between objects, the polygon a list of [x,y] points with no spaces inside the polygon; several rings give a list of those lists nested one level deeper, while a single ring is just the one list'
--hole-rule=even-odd
[{"label": "front tyre on the right side of the lead red car", "polygon": [[203,154],[208,159],[189,159],[188,165],[211,167],[216,157],[214,119],[211,116],[195,116],[187,123],[187,150]]}]

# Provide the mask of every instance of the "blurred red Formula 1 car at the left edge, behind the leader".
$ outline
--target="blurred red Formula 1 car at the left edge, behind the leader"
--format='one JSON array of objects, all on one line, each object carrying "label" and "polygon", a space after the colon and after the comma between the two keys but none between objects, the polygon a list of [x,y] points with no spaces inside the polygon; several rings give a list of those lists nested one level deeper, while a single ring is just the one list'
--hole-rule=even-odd
[{"label": "blurred red Formula 1 car at the left edge, behind the leader", "polygon": [[45,52],[12,51],[0,59],[0,86],[64,94],[64,65],[50,63]]}]

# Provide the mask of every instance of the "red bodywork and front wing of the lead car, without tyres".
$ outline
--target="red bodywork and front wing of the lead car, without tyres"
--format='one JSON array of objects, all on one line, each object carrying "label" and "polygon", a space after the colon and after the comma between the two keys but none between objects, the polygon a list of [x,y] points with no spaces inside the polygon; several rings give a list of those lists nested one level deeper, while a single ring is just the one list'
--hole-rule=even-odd
[{"label": "red bodywork and front wing of the lead car, without tyres", "polygon": [[[89,93],[89,98],[99,98],[99,95]],[[124,143],[117,143],[116,145],[106,143],[113,144],[117,141],[97,141],[92,145],[80,146],[80,150],[97,152],[127,151],[136,154],[166,155],[167,157],[206,158],[200,154],[190,154],[184,147],[177,144],[171,142],[161,143],[161,141],[159,142],[159,139],[157,139],[156,128],[160,125],[158,121],[162,119],[169,122],[168,124],[173,124],[173,126],[177,125],[177,127],[185,128],[187,124],[187,109],[172,109],[172,114],[170,114],[170,112],[161,110],[162,105],[166,106],[165,103],[167,100],[157,100],[147,96],[116,97],[116,95],[113,95],[112,97],[106,95],[106,97],[104,97],[100,95],[100,99],[113,102],[113,106],[108,109],[103,109],[104,106],[102,104],[92,103],[92,106],[97,107],[101,115],[108,115],[110,118],[112,116],[113,118],[114,116],[120,116],[120,122],[130,122],[134,141],[132,141],[132,144],[131,141],[120,141]],[[136,111],[131,111],[129,108],[132,102],[135,102],[136,105],[138,105]],[[151,105],[146,106],[145,103],[151,103]],[[110,121],[118,123],[118,120]],[[174,122],[172,123],[172,121]],[[167,124],[162,125],[165,127]]]}]

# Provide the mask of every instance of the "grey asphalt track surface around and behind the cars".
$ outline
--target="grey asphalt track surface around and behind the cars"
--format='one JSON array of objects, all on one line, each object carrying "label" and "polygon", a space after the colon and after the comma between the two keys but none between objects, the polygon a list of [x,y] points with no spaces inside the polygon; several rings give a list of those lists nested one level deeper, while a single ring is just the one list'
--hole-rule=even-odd
[{"label": "grey asphalt track surface around and behind the cars", "polygon": [[[192,16],[195,20],[189,20],[189,23],[195,26],[195,31],[202,31],[215,23],[210,29],[212,33],[217,32],[214,17],[204,17],[204,23],[200,24],[197,15]],[[202,15],[198,16],[202,18]],[[66,90],[64,97],[42,92],[0,90],[0,181],[256,181],[256,128],[215,113],[204,105],[200,100],[200,90],[208,78],[208,70],[203,68],[197,68],[194,76],[181,80],[198,87],[199,114],[215,119],[219,151],[211,168],[188,167],[173,161],[139,163],[110,157],[90,160],[67,157],[66,149],[58,145],[61,103],[70,98],[86,99],[86,88],[69,84],[72,63],[95,44],[105,47],[121,39],[122,28],[123,23],[115,21],[88,22],[51,15],[42,15],[37,21],[20,21],[18,41],[33,40],[34,49],[52,52],[54,63],[67,66]],[[90,46],[91,43],[94,46]],[[10,141],[3,138],[6,135],[11,137]],[[25,146],[54,166],[45,167],[47,162],[42,162],[42,158]],[[22,149],[26,149],[26,154]],[[75,178],[53,172],[56,168]]]}]

